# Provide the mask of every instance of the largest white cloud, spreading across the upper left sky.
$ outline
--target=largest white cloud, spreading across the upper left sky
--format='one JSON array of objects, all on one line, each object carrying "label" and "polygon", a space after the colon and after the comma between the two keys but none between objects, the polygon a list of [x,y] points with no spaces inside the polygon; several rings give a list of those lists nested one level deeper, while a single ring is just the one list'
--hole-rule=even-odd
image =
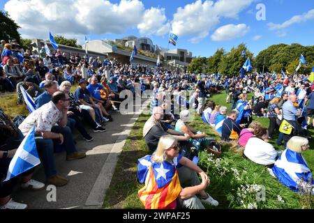
[{"label": "largest white cloud, spreading across the upper left sky", "polygon": [[139,0],[110,3],[103,0],[10,0],[4,6],[22,27],[24,38],[53,35],[82,38],[89,33],[122,34],[141,22],[144,5]]}]

